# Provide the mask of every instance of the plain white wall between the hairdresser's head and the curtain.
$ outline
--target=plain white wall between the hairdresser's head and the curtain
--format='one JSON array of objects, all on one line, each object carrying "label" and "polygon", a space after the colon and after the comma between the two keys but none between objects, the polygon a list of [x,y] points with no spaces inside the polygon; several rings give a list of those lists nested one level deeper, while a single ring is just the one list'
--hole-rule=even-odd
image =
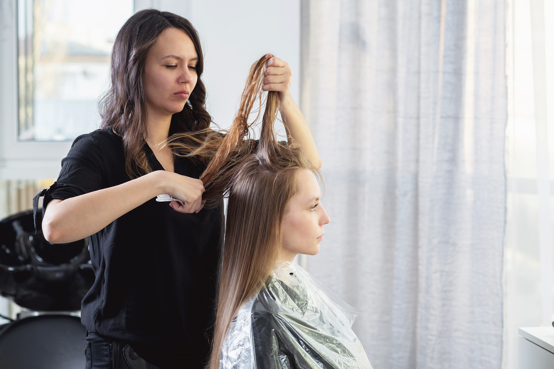
[{"label": "plain white wall between the hairdresser's head and the curtain", "polygon": [[233,121],[250,66],[271,53],[293,71],[291,95],[300,97],[300,0],[280,2],[153,1],[155,7],[191,21],[204,48],[202,80],[207,110],[220,128]]}]

